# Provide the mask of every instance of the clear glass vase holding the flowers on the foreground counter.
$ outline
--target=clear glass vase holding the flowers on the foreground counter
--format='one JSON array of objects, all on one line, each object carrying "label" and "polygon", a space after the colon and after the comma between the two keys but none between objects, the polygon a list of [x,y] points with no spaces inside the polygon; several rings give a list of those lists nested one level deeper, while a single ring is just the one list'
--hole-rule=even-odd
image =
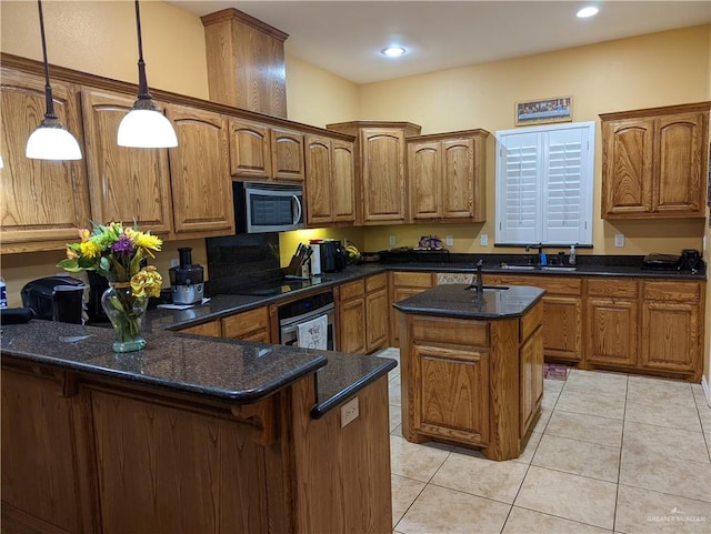
[{"label": "clear glass vase holding the flowers on the foreground counter", "polygon": [[114,352],[140,351],[146,346],[141,336],[141,322],[148,299],[133,296],[128,282],[113,282],[101,295],[101,308],[113,325]]}]

